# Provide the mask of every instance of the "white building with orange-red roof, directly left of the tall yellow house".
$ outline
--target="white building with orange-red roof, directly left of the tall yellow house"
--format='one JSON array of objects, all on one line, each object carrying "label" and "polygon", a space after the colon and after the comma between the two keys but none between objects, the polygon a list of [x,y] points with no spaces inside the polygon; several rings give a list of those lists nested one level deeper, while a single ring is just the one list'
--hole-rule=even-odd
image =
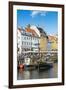
[{"label": "white building with orange-red roof, directly left of the tall yellow house", "polygon": [[34,29],[26,27],[26,32],[31,33],[31,51],[39,50],[39,35],[35,32]]}]

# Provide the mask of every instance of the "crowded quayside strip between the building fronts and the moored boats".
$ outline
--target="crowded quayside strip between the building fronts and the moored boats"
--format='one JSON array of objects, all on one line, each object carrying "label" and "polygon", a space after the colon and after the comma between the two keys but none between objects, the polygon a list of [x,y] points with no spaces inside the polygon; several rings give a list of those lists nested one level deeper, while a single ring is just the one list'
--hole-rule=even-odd
[{"label": "crowded quayside strip between the building fronts and the moored boats", "polygon": [[58,51],[24,51],[20,56],[17,56],[17,61],[20,63],[24,62],[25,58],[31,58],[34,61],[57,61]]}]

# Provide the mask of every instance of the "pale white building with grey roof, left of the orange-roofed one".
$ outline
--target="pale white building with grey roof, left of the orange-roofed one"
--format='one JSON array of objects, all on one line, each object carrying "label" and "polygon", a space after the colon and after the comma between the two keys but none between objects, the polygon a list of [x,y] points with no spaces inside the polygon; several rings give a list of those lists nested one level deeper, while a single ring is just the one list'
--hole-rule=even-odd
[{"label": "pale white building with grey roof, left of the orange-roofed one", "polygon": [[22,30],[21,32],[21,42],[22,42],[22,52],[30,51],[32,46],[32,34]]}]

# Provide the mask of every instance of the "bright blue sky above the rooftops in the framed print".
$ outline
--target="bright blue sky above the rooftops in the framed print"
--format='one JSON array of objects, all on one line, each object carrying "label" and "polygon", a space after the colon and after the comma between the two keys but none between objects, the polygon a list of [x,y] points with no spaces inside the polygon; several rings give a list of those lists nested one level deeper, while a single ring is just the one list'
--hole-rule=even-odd
[{"label": "bright blue sky above the rooftops in the framed print", "polygon": [[56,11],[36,11],[17,10],[17,27],[25,28],[28,24],[36,25],[49,35],[58,32],[58,12]]}]

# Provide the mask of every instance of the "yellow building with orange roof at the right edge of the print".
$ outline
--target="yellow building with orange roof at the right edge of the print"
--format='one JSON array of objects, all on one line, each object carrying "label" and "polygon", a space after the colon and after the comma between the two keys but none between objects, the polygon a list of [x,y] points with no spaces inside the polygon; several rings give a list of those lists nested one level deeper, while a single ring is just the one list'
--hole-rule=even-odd
[{"label": "yellow building with orange roof at the right edge of the print", "polygon": [[50,41],[50,48],[51,50],[58,50],[58,37],[57,36],[48,36]]}]

